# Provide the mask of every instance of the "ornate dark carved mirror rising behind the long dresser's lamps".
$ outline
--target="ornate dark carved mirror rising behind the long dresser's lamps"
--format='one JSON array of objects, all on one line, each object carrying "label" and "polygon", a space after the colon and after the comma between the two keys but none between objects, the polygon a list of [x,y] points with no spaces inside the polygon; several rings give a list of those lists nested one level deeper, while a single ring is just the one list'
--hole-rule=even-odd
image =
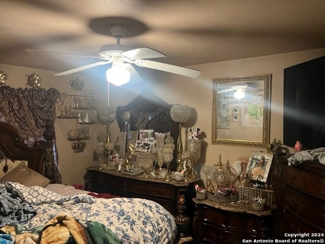
[{"label": "ornate dark carved mirror rising behind the long dresser's lamps", "polygon": [[[129,112],[128,123],[130,131],[153,129],[157,133],[170,132],[174,138],[176,148],[179,124],[173,121],[170,116],[172,106],[157,97],[149,88],[144,88],[139,96],[127,105],[116,108],[117,124],[120,131],[125,131],[123,113]],[[175,158],[176,150],[174,152],[174,160],[171,163],[172,170],[176,169]]]}]

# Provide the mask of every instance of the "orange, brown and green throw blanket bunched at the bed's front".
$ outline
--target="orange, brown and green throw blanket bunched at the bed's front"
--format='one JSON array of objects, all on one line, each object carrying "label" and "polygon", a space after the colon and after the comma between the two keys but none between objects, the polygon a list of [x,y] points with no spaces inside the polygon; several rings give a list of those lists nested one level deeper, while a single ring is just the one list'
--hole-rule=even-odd
[{"label": "orange, brown and green throw blanket bunched at the bed's front", "polygon": [[[45,226],[26,230],[20,224],[6,225],[0,229],[1,236],[17,244],[120,244],[120,239],[106,226],[95,221],[81,221],[64,214],[57,215]],[[7,234],[7,235],[6,235]],[[11,238],[10,238],[11,237]]]}]

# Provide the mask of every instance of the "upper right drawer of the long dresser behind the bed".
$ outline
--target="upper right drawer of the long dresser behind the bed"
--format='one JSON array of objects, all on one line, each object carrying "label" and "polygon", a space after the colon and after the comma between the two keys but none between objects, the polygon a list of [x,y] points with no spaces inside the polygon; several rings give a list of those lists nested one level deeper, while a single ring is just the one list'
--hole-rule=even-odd
[{"label": "upper right drawer of the long dresser behind the bed", "polygon": [[150,183],[148,182],[144,182],[142,184],[140,182],[135,181],[126,181],[125,191],[147,196],[158,196],[170,199],[176,198],[176,193],[174,189],[159,185],[150,185]]}]

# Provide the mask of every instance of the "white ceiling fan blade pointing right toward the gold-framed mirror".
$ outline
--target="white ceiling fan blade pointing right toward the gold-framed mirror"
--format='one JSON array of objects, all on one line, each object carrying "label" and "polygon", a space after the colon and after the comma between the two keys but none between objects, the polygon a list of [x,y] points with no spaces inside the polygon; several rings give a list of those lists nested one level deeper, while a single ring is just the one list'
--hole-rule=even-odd
[{"label": "white ceiling fan blade pointing right toward the gold-framed mirror", "polygon": [[184,75],[192,78],[197,78],[201,74],[200,70],[194,70],[194,69],[159,63],[159,62],[145,60],[145,59],[137,59],[135,60],[135,64],[140,67],[166,71],[166,72],[170,72],[178,75]]}]

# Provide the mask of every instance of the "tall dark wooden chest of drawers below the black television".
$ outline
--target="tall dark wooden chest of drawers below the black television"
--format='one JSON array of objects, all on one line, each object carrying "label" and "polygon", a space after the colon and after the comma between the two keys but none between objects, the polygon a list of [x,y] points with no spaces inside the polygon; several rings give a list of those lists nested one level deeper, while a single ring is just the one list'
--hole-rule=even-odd
[{"label": "tall dark wooden chest of drawers below the black television", "polygon": [[275,162],[278,174],[274,192],[279,210],[280,234],[325,235],[325,166],[318,161],[289,166],[289,156],[278,156]]}]

